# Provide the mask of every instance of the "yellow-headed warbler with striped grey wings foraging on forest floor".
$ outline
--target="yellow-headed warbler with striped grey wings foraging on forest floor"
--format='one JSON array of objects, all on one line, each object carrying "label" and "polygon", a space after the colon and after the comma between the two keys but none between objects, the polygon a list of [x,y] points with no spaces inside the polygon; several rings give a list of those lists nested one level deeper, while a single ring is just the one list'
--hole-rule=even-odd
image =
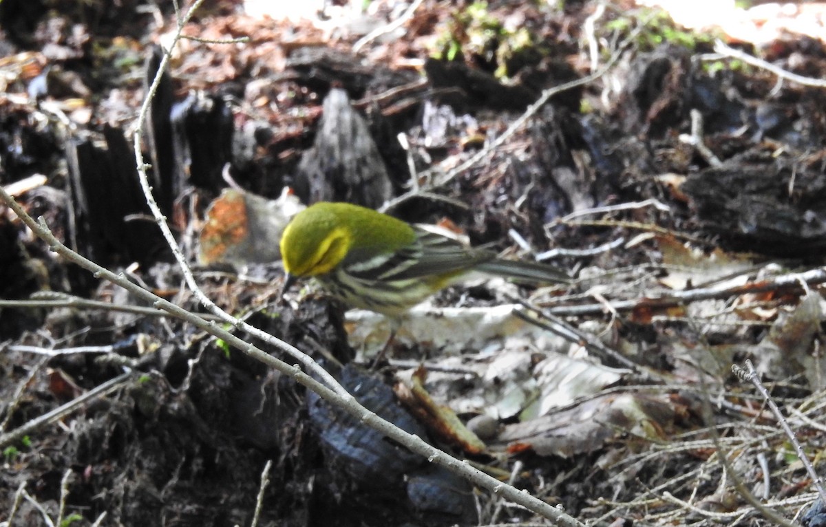
[{"label": "yellow-headed warbler with striped grey wings foraging on forest floor", "polygon": [[297,278],[316,278],[350,306],[393,318],[472,272],[571,281],[557,268],[500,259],[490,250],[339,202],[318,202],[294,216],[284,229],[281,255],[284,291]]}]

